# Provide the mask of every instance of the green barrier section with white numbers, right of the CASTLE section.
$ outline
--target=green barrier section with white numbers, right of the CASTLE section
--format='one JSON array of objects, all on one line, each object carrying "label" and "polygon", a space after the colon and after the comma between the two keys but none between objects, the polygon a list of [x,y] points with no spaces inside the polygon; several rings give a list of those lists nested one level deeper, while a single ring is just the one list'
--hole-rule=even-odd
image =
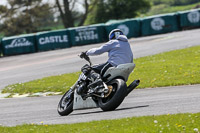
[{"label": "green barrier section with white numbers, right of the CASTLE section", "polygon": [[106,41],[104,24],[69,28],[68,30],[72,46]]}]

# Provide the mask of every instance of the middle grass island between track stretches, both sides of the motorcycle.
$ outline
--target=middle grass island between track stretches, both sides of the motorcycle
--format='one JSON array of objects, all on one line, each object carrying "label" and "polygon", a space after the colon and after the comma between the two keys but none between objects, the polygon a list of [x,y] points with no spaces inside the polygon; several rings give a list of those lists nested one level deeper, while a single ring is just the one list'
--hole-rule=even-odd
[{"label": "middle grass island between track stretches, both sides of the motorcycle", "polygon": [[[134,60],[136,68],[127,84],[140,79],[138,88],[200,83],[200,46],[175,50]],[[9,85],[3,93],[66,92],[80,72],[46,77]]]}]

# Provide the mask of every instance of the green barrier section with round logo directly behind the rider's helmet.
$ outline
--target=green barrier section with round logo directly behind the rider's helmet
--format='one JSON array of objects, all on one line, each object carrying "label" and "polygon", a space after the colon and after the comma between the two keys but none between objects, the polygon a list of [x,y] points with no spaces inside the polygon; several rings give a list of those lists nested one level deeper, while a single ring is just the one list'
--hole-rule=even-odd
[{"label": "green barrier section with round logo directly behind the rider's helmet", "polygon": [[109,21],[106,23],[107,36],[113,29],[120,29],[128,37],[139,37],[140,36],[140,20],[139,19],[127,19],[119,21]]}]

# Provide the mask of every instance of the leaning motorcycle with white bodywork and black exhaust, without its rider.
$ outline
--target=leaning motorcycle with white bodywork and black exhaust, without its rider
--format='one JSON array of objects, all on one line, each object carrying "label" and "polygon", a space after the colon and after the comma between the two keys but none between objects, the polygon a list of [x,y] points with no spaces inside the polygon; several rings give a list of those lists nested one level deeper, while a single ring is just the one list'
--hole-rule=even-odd
[{"label": "leaning motorcycle with white bodywork and black exhaust, without its rider", "polygon": [[[81,57],[92,63],[88,56]],[[58,104],[58,114],[61,116],[69,115],[73,110],[101,108],[103,111],[115,110],[124,100],[124,98],[135,89],[140,80],[134,80],[128,87],[126,81],[130,73],[135,68],[134,63],[121,64],[117,67],[110,67],[101,77],[103,87],[92,86],[92,80],[81,73],[75,84],[62,96]],[[84,92],[77,93],[83,87]],[[97,91],[98,90],[98,91]]]}]

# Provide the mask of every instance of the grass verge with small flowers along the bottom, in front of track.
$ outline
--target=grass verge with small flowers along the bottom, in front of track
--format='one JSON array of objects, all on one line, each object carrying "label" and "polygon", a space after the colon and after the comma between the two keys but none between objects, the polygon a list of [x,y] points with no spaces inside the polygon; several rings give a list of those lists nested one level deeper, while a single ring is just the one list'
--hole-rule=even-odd
[{"label": "grass verge with small flowers along the bottom, in front of track", "polygon": [[[42,123],[42,122],[41,122]],[[132,117],[62,125],[1,127],[1,133],[198,133],[200,113]]]}]

